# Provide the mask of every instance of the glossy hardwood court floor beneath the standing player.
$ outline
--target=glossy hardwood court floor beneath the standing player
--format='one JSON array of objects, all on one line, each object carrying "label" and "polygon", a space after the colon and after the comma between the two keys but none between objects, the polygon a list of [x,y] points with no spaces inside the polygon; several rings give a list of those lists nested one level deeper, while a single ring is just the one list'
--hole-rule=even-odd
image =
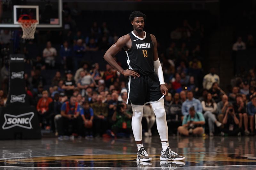
[{"label": "glossy hardwood court floor beneath the standing player", "polygon": [[160,161],[160,138],[144,137],[152,162],[136,162],[133,138],[0,141],[0,169],[4,170],[183,170],[256,169],[255,137],[170,137],[174,152],[185,161]]}]

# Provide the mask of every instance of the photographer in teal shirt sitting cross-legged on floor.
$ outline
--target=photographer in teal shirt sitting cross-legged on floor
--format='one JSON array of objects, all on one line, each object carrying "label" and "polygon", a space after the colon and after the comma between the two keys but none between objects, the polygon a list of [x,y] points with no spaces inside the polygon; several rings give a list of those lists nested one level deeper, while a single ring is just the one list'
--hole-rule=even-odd
[{"label": "photographer in teal shirt sitting cross-legged on floor", "polygon": [[194,106],[189,108],[189,115],[182,121],[182,126],[178,127],[178,132],[182,135],[203,135],[205,120],[204,115],[196,112]]}]

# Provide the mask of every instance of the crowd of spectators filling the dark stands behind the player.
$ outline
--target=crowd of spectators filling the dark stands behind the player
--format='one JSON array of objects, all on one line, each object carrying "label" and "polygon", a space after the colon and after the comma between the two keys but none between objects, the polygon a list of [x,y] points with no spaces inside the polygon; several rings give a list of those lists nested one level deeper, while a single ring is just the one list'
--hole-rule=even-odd
[{"label": "crowd of spectators filling the dark stands behind the player", "polygon": [[[50,31],[45,36],[41,36],[39,31],[36,40],[26,42],[23,49],[26,92],[30,105],[37,109],[41,128],[52,130],[60,139],[106,134],[129,136],[132,134],[132,109],[126,104],[126,78],[109,64],[100,67],[103,55],[98,62],[87,58],[88,53],[104,53],[119,36],[110,31],[106,22],[100,26],[93,22],[88,35],[84,35],[76,29],[76,23],[65,6],[64,11],[67,13],[64,30],[53,36],[55,40],[52,40]],[[1,33],[2,48],[8,47],[9,34],[7,31]],[[209,74],[204,74],[203,39],[204,25],[196,21],[195,26],[191,26],[188,20],[184,20],[181,26],[170,32],[167,47],[164,50],[163,45],[159,47],[164,80],[169,89],[168,96],[164,98],[169,128],[176,128],[173,133],[178,131],[185,136],[202,135],[206,131],[210,136],[253,135],[255,70],[232,80],[232,90],[224,92],[219,87],[221,80],[214,68]],[[41,51],[36,43],[39,40],[45,42]],[[52,46],[52,41],[62,45]],[[239,39],[233,48],[238,50],[242,46]],[[0,107],[7,100],[7,60],[3,60],[1,68]],[[115,60],[124,66],[119,58]],[[152,136],[156,119],[150,106],[144,107],[144,117],[144,134]]]}]

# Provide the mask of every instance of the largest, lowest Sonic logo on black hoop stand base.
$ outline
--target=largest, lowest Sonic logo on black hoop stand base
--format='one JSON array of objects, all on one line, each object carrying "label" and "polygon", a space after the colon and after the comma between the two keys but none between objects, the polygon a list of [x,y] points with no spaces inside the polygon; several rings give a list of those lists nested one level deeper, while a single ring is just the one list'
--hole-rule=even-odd
[{"label": "largest, lowest Sonic logo on black hoop stand base", "polygon": [[19,126],[25,129],[32,129],[31,120],[34,117],[34,115],[34,112],[24,113],[17,116],[4,114],[5,122],[2,128],[5,130],[13,128],[15,126]]}]

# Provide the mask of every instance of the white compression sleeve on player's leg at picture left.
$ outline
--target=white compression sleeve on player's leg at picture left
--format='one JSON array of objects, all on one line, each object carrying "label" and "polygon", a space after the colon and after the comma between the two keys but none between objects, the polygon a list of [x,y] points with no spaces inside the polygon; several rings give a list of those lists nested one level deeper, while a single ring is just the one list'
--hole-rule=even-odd
[{"label": "white compression sleeve on player's leg at picture left", "polygon": [[133,105],[132,104],[132,132],[135,141],[142,140],[142,126],[141,119],[143,115],[143,105]]}]

